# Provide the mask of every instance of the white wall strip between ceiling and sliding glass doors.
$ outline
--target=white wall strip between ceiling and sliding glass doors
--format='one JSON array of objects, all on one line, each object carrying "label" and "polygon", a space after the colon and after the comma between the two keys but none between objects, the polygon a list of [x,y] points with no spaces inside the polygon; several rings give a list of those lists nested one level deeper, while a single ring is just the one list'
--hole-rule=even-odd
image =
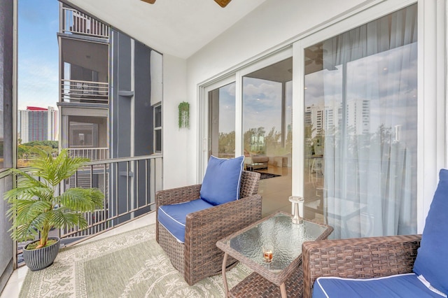
[{"label": "white wall strip between ceiling and sliding glass doors", "polygon": [[267,0],[188,58],[188,76],[195,82],[206,80],[363,3],[371,2]]}]

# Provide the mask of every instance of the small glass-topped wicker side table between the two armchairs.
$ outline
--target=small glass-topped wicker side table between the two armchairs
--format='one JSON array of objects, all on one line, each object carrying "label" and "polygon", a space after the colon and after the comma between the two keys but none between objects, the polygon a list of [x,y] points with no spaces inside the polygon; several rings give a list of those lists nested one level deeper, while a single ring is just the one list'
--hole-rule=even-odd
[{"label": "small glass-topped wicker side table between the two armchairs", "polygon": [[[226,297],[240,291],[253,292],[253,296],[266,296],[272,291],[280,290],[281,297],[287,297],[286,282],[294,274],[301,274],[302,243],[326,239],[332,232],[332,227],[319,225],[304,220],[302,224],[293,224],[292,215],[277,212],[255,222],[253,225],[241,229],[225,239],[221,239],[216,246],[224,251],[223,283]],[[267,262],[263,254],[263,246],[271,246],[272,261]],[[225,268],[228,256],[234,257],[242,264],[253,270],[244,281],[241,281],[230,292],[228,291]],[[300,272],[299,272],[300,271]],[[302,281],[293,278],[293,283],[300,283],[295,287],[302,295]],[[274,286],[274,288],[273,288]],[[294,285],[289,287],[293,290]],[[278,293],[271,293],[273,297]],[[295,295],[293,295],[295,296]]]}]

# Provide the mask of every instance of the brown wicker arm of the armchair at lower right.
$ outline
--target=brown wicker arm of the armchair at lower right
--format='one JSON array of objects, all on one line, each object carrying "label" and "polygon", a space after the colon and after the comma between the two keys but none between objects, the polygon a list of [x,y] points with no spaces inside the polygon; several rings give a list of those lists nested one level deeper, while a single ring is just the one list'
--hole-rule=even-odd
[{"label": "brown wicker arm of the armchair at lower right", "polygon": [[382,236],[305,242],[302,246],[303,297],[312,296],[321,276],[374,278],[412,272],[421,235]]}]

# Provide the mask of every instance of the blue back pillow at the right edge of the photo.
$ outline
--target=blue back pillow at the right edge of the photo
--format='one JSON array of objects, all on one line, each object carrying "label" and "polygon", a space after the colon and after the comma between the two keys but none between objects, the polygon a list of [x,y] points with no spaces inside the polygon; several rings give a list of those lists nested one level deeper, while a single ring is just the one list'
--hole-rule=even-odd
[{"label": "blue back pillow at the right edge of the photo", "polygon": [[426,218],[414,272],[437,290],[448,293],[448,170],[441,169],[439,185]]}]

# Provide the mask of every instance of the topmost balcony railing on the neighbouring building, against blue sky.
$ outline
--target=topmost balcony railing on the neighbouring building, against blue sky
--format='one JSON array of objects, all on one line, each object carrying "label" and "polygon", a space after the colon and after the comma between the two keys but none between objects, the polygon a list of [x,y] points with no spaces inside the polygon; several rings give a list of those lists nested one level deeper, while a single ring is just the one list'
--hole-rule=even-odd
[{"label": "topmost balcony railing on the neighbouring building, against blue sky", "polygon": [[62,8],[62,32],[109,39],[109,26],[73,8]]}]

